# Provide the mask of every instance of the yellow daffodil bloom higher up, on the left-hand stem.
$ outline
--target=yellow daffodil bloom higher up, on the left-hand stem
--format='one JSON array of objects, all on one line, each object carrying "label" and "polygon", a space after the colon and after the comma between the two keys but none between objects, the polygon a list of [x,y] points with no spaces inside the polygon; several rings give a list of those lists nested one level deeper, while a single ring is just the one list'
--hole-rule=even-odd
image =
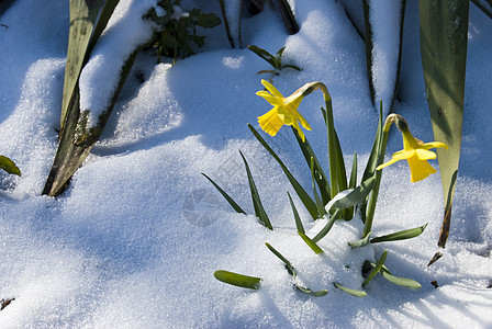
[{"label": "yellow daffodil bloom higher up, on the left-hand stem", "polygon": [[310,124],[298,112],[298,107],[301,104],[304,94],[298,90],[298,92],[284,98],[280,91],[267,80],[261,80],[261,83],[269,92],[261,90],[256,94],[264,98],[273,106],[273,109],[266,114],[258,116],[258,123],[261,129],[271,136],[275,136],[283,125],[291,125],[298,131],[299,136],[301,136],[302,141],[304,141],[304,133],[299,126],[299,123],[301,123],[305,129],[311,131]]}]

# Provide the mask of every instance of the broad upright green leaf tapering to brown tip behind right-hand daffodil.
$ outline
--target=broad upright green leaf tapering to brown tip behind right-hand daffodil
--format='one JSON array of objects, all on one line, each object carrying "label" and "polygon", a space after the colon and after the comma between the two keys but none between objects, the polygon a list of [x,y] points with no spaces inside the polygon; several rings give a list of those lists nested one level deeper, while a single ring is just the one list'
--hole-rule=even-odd
[{"label": "broad upright green leaf tapering to brown tip behind right-hand daffodil", "polygon": [[445,218],[438,246],[449,235],[451,204],[461,150],[469,1],[420,1],[421,56],[437,149]]}]

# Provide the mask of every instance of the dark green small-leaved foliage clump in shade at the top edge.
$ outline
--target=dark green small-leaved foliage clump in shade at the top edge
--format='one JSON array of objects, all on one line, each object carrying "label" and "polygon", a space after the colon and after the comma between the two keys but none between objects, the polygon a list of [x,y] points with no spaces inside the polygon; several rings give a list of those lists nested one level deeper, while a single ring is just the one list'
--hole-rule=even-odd
[{"label": "dark green small-leaved foliage clump in shade at the top edge", "polygon": [[161,0],[157,3],[160,8],[153,8],[144,16],[157,24],[148,46],[156,49],[158,60],[160,56],[186,58],[194,54],[193,44],[201,47],[205,37],[197,35],[197,26],[211,29],[222,23],[214,13],[204,13],[194,8],[187,12],[181,8],[181,0]]}]

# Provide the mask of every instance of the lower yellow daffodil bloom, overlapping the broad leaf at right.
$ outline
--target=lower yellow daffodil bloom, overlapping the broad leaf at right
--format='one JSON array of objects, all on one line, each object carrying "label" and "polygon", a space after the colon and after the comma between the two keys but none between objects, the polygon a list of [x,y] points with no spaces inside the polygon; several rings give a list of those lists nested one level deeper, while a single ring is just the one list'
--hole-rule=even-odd
[{"label": "lower yellow daffodil bloom, overlapping the broad leaf at right", "polygon": [[422,140],[413,137],[410,131],[403,131],[403,150],[393,154],[393,158],[376,168],[377,170],[381,170],[384,167],[393,164],[400,160],[406,160],[409,162],[410,172],[411,172],[411,181],[418,182],[423,179],[427,178],[429,174],[435,173],[436,169],[434,169],[427,160],[432,160],[436,158],[436,154],[429,151],[431,148],[445,147],[448,146],[440,141],[432,141],[424,144]]}]

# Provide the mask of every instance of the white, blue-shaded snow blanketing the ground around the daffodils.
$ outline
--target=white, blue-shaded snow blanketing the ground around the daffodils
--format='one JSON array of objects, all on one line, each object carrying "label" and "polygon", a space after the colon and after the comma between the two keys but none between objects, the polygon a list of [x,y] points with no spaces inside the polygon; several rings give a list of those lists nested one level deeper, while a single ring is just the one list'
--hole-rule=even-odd
[{"label": "white, blue-shaded snow blanketing the ground around the daffodils", "polygon": [[[122,1],[127,8],[144,2],[152,1]],[[401,102],[394,111],[406,118],[414,136],[431,141],[417,2],[407,1]],[[219,5],[214,8],[219,13]],[[310,81],[328,87],[346,162],[351,163],[357,151],[361,173],[378,122],[364,43],[336,1],[298,0],[295,11],[301,30],[292,36],[268,7],[243,19],[244,44],[270,53],[286,46],[284,63],[303,70],[282,70],[275,77],[284,95]],[[138,56],[101,141],[69,189],[57,198],[42,196],[57,147],[68,3],[18,0],[0,23],[9,26],[0,27],[0,154],[12,158],[23,173],[1,174],[0,299],[15,298],[0,311],[1,328],[492,326],[492,290],[487,288],[492,280],[492,93],[484,88],[492,69],[492,22],[477,8],[470,8],[463,145],[451,235],[440,250],[444,257],[432,266],[427,263],[438,251],[443,219],[440,179],[433,174],[411,183],[406,163],[383,171],[373,234],[428,223],[422,236],[353,250],[347,242],[359,239],[362,230],[356,218],[335,223],[318,242],[323,254],[316,256],[300,239],[287,191],[310,237],[326,222],[309,218],[278,163],[247,128],[247,123],[258,128],[257,116],[270,110],[255,95],[262,88],[255,72],[267,64],[248,49],[231,49],[223,26],[203,31],[220,41],[175,66]],[[121,29],[127,32],[132,26]],[[103,39],[101,56],[109,54]],[[120,46],[115,49],[123,52]],[[104,78],[94,76],[92,81],[101,87],[93,98],[104,97],[110,83],[102,82],[113,72],[111,60],[97,70]],[[327,168],[322,102],[315,92],[300,111],[313,128],[306,137]],[[276,137],[262,136],[311,191],[311,173],[290,128],[282,127]],[[400,134],[391,131],[388,154],[401,148]],[[239,149],[273,231],[251,215]],[[437,167],[437,161],[432,164]],[[235,213],[202,172],[248,215]],[[326,288],[328,294],[315,298],[293,290],[292,276],[265,242],[292,262],[297,283],[313,291]],[[420,291],[394,286],[379,275],[366,286],[365,298],[333,286],[337,282],[360,288],[360,264],[379,259],[384,250],[392,273],[418,281]],[[221,283],[213,276],[216,270],[260,276],[261,288]],[[438,288],[431,284],[434,280]]]}]

